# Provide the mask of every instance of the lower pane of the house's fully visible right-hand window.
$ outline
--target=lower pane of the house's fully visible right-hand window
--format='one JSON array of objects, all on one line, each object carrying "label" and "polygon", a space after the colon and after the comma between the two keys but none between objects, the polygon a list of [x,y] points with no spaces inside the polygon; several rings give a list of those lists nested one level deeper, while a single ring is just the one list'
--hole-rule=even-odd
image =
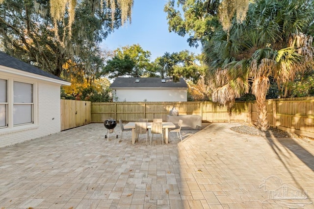
[{"label": "lower pane of the house's fully visible right-hand window", "polygon": [[13,105],[13,123],[19,125],[32,122],[32,105],[15,104]]}]

